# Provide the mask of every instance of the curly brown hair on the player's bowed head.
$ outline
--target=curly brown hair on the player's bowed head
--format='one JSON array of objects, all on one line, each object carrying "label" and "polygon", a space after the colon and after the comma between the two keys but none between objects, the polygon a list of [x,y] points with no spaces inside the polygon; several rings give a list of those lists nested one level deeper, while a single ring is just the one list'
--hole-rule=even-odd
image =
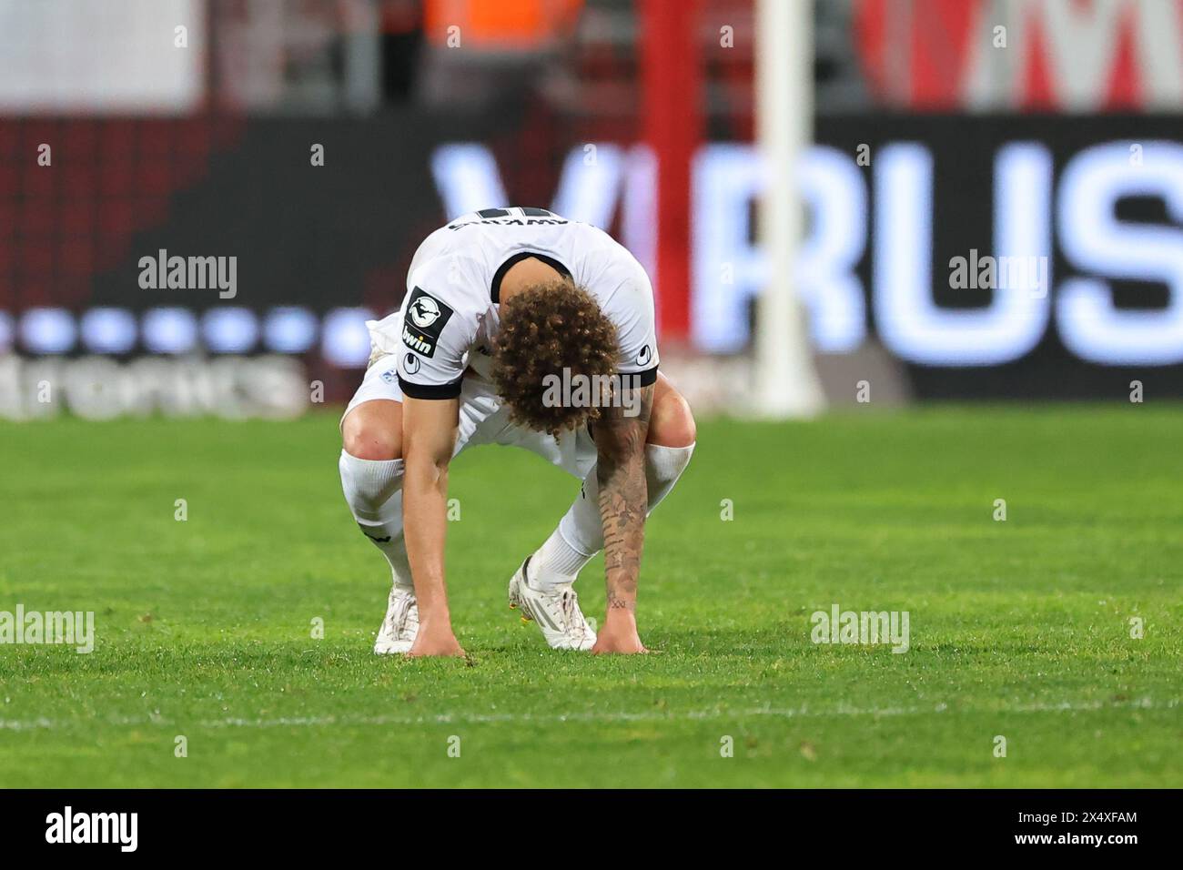
[{"label": "curly brown hair on the player's bowed head", "polygon": [[535,284],[502,303],[500,321],[492,379],[510,419],[556,437],[599,419],[594,401],[548,399],[564,372],[601,384],[616,369],[616,327],[592,295],[567,279]]}]

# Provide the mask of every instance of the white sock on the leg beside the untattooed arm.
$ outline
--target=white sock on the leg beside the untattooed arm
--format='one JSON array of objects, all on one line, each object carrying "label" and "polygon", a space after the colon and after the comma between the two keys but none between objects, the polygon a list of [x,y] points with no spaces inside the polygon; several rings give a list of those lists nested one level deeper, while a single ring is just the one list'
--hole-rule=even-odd
[{"label": "white sock on the leg beside the untattooed arm", "polygon": [[402,459],[358,459],[342,450],[337,468],[354,520],[390,563],[394,585],[414,594],[402,539]]}]

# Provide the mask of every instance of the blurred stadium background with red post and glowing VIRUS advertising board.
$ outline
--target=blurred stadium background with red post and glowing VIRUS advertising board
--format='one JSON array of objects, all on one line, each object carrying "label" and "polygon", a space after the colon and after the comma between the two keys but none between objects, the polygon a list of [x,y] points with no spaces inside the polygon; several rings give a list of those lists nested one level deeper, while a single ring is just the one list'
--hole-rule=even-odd
[{"label": "blurred stadium background with red post and glowing VIRUS advertising board", "polygon": [[[1183,0],[799,6],[791,285],[826,401],[1183,397]],[[758,14],[0,0],[0,415],[342,402],[418,243],[508,204],[613,232],[655,279],[664,367],[700,411],[750,407],[777,277]],[[142,289],[161,251],[237,257],[233,298]],[[956,285],[991,254],[1047,279]]]}]

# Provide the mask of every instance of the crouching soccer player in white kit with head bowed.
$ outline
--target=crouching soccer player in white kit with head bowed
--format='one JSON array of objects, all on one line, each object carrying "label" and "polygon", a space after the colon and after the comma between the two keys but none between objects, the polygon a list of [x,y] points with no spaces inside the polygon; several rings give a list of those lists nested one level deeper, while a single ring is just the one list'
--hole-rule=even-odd
[{"label": "crouching soccer player in white kit with head bowed", "polygon": [[[511,578],[510,606],[554,649],[645,652],[645,520],[689,464],[694,420],[658,372],[653,288],[636,259],[545,210],[486,208],[428,236],[401,310],[367,326],[373,355],[342,418],[340,469],[354,518],[394,575],[374,651],[464,655],[444,575],[448,463],[500,444],[583,482]],[[573,584],[600,549],[597,637]]]}]

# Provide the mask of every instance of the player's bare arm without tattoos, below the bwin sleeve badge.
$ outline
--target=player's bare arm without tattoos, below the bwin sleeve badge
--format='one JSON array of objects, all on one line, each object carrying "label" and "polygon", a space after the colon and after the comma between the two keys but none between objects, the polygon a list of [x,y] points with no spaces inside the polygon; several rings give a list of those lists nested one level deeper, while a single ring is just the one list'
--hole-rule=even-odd
[{"label": "player's bare arm without tattoos, below the bwin sleeve badge", "polygon": [[459,406],[457,399],[411,397],[403,405],[403,534],[420,620],[411,656],[464,655],[452,631],[444,578],[447,470],[455,445]]}]

